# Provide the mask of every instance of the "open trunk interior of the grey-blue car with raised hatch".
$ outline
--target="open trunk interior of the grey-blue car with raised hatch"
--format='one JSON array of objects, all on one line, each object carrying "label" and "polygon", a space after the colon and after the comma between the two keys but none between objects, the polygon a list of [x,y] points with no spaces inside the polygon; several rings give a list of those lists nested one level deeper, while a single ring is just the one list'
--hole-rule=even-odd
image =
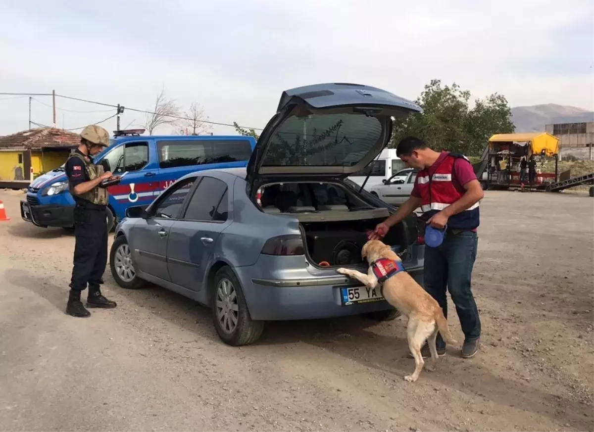
[{"label": "open trunk interior of the grey-blue car with raised hatch", "polygon": [[[390,215],[338,182],[273,183],[260,190],[264,212],[299,221],[307,258],[316,266],[363,263],[361,249],[369,230]],[[392,227],[383,242],[395,252],[406,249],[403,225]]]}]

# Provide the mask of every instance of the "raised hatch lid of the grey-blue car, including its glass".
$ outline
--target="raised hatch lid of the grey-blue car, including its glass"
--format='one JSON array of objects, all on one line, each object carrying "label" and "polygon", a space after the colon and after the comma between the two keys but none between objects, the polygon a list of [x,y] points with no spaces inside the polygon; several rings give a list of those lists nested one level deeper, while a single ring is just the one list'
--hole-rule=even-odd
[{"label": "raised hatch lid of the grey-blue car, including its glass", "polygon": [[386,147],[392,117],[422,112],[412,101],[361,84],[316,84],[286,90],[247,166],[258,177],[345,178]]}]

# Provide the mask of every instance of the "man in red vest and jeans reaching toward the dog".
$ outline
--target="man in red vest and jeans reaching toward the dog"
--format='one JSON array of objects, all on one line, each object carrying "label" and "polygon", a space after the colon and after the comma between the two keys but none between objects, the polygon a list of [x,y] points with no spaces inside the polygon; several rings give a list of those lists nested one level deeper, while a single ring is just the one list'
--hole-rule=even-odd
[{"label": "man in red vest and jeans reaching toward the dog", "polygon": [[[370,239],[386,235],[421,207],[421,218],[435,228],[444,228],[440,246],[425,246],[425,290],[431,294],[447,317],[446,288],[456,305],[465,335],[462,357],[470,358],[479,349],[481,320],[470,290],[472,267],[476,258],[479,226],[479,201],[484,196],[481,184],[466,157],[447,151],[431,150],[421,139],[408,136],[399,142],[397,156],[418,171],[410,198],[386,221],[375,227]],[[437,336],[438,355],[445,354],[445,341]],[[421,353],[430,357],[425,345]]]}]

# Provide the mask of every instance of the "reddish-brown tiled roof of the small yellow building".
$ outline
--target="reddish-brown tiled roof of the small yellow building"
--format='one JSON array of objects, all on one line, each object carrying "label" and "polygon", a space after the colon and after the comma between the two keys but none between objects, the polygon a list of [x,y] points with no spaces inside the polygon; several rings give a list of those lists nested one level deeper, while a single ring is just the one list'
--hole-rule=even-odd
[{"label": "reddish-brown tiled roof of the small yellow building", "polygon": [[0,148],[75,147],[80,144],[80,135],[54,128],[37,128],[12,135],[0,136]]}]

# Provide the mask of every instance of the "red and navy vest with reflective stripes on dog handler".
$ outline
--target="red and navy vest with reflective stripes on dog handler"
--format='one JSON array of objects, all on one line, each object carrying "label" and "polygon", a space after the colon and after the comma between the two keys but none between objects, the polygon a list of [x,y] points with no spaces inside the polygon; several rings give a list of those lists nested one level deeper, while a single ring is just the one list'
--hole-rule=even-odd
[{"label": "red and navy vest with reflective stripes on dog handler", "polygon": [[[461,158],[467,160],[461,154],[448,153],[431,177],[429,177],[427,169],[423,169],[417,174],[417,188],[421,195],[423,219],[428,220],[432,215],[458,201],[464,195],[456,189],[452,182],[454,162]],[[477,202],[469,209],[451,216],[448,220],[448,227],[473,230],[478,227],[479,222],[479,203]]]}]

